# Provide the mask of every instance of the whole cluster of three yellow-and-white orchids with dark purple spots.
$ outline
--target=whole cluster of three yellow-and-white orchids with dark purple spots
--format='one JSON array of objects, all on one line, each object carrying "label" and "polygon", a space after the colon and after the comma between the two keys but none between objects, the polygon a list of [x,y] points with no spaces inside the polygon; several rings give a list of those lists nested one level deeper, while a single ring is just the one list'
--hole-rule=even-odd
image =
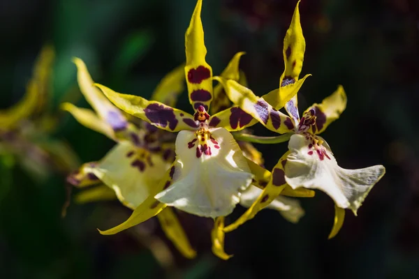
[{"label": "whole cluster of three yellow-and-white orchids with dark purple spots", "polygon": [[[344,222],[344,209],[356,214],[385,169],[382,165],[343,169],[319,136],[346,108],[342,86],[300,117],[297,92],[309,75],[300,79],[305,40],[298,4],[284,39],[285,70],[279,88],[262,97],[247,88],[239,69],[243,52],[233,56],[221,75],[213,77],[205,61],[201,6],[198,0],[186,30],[186,64],[164,77],[152,100],[95,84],[83,61],[74,59],[80,89],[95,112],[70,103],[63,105],[64,110],[117,142],[103,159],[86,163],[68,176],[70,183],[83,188],[78,200],[119,199],[133,209],[128,220],[101,234],[116,234],[156,216],[186,257],[194,257],[196,251],[176,211],[212,218],[212,250],[228,259],[223,248],[227,232],[264,208],[277,210],[296,223],[304,211],[293,197],[314,197],[318,189],[335,202],[332,238]],[[219,84],[213,86],[214,80]],[[175,108],[184,81],[193,114]],[[279,111],[282,108],[288,115]],[[265,138],[244,133],[258,122],[283,135]],[[250,143],[288,140],[289,150],[271,171],[263,167],[261,154]],[[248,209],[226,226],[226,216],[237,204]]]}]

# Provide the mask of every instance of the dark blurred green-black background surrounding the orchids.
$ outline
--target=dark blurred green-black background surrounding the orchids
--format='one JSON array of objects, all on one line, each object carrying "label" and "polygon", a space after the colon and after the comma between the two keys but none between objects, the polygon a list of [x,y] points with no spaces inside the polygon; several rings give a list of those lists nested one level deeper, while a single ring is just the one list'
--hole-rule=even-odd
[{"label": "dark blurred green-black background surrounding the orchids", "polygon": [[[184,61],[184,31],[194,0],[2,0],[0,1],[0,108],[22,98],[45,43],[54,45],[53,134],[80,162],[98,160],[113,142],[59,111],[61,100],[87,107],[75,79],[72,56],[112,89],[149,97],[161,77]],[[277,88],[284,69],[282,42],[295,0],[205,0],[207,61],[214,73],[236,52],[259,96]],[[324,133],[346,168],[383,164],[387,173],[358,217],[347,212],[330,241],[334,208],[318,192],[302,199],[306,215],[287,223],[262,211],[227,234],[227,262],[211,253],[208,220],[180,213],[198,257],[186,260],[154,220],[115,236],[96,227],[117,225],[130,211],[118,202],[74,204],[62,173],[40,180],[10,158],[1,158],[1,278],[419,278],[419,2],[416,0],[302,0],[307,50],[300,110],[321,102],[338,84],[348,107]],[[186,95],[179,108],[190,110]],[[258,135],[270,135],[260,126]],[[273,167],[286,144],[257,145]],[[240,206],[239,206],[240,207]],[[244,209],[237,208],[231,222]],[[166,242],[172,255],[157,261],[142,235]],[[147,236],[148,237],[148,236]]]}]

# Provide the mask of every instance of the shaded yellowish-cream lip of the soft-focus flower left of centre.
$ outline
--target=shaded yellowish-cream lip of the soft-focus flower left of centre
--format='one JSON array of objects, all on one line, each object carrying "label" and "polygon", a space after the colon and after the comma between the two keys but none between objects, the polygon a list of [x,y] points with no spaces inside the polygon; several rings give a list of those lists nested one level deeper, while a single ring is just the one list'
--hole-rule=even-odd
[{"label": "shaded yellowish-cream lip of the soft-focus flower left of centre", "polygon": [[122,204],[135,209],[151,194],[169,166],[161,156],[120,142],[100,163],[87,167],[87,171],[115,190]]}]

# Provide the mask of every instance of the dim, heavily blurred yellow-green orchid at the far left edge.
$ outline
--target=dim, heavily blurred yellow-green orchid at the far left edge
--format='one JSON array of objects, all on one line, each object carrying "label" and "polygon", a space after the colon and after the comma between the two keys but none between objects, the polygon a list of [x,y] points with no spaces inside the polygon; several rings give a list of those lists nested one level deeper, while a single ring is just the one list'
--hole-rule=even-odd
[{"label": "dim, heavily blurred yellow-green orchid at the far left edge", "polygon": [[37,179],[45,178],[51,169],[66,173],[78,165],[68,145],[50,135],[57,126],[57,116],[49,110],[54,55],[53,47],[43,47],[22,100],[0,110],[0,155],[17,158]]}]

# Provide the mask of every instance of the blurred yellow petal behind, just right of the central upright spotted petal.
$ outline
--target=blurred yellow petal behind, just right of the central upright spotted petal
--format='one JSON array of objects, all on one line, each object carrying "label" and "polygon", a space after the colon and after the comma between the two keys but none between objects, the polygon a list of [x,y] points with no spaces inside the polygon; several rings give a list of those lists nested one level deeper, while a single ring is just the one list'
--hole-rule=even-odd
[{"label": "blurred yellow petal behind, just right of the central upright spotted petal", "polygon": [[[240,57],[242,57],[243,54],[244,52],[238,52],[233,56],[233,59],[231,59],[227,67],[221,73],[221,77],[224,77],[226,80],[235,80],[236,82],[240,82],[241,78],[242,82],[247,82],[246,77],[244,77],[243,74],[241,75],[239,70]],[[230,100],[228,100],[226,93],[224,93],[221,84],[216,84],[214,87],[214,98],[211,105],[210,114],[216,114],[216,112],[221,112],[231,106]]]}]

